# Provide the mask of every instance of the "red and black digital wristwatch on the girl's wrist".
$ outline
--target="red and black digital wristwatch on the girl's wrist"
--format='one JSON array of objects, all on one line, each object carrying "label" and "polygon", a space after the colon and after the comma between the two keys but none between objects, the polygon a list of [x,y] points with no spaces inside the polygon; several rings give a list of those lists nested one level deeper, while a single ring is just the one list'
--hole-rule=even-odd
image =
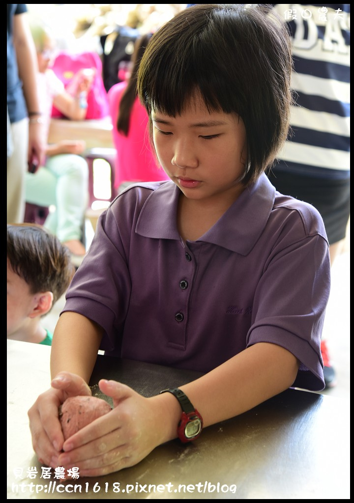
[{"label": "red and black digital wristwatch on the girl's wrist", "polygon": [[184,444],[191,442],[199,437],[201,429],[203,428],[203,420],[196,408],[193,407],[187,395],[178,388],[163,389],[161,393],[172,393],[175,395],[182,409],[181,420],[178,423],[177,433],[178,438]]}]

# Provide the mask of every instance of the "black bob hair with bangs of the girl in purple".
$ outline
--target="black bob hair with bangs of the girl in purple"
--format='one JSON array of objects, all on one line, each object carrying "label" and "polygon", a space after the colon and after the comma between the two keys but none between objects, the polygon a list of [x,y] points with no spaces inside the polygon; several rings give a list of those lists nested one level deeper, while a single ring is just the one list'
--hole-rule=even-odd
[{"label": "black bob hair with bangs of the girl in purple", "polygon": [[200,4],[159,28],[141,59],[137,89],[151,116],[176,117],[201,97],[210,111],[237,114],[247,138],[246,186],[273,163],[287,138],[291,41],[260,5]]}]

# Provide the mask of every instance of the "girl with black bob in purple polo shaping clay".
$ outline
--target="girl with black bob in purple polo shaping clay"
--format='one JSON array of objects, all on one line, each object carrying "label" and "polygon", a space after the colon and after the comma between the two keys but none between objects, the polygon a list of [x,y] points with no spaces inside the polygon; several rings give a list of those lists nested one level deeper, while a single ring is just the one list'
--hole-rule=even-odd
[{"label": "girl with black bob in purple polo shaping clay", "polygon": [[[291,69],[288,33],[258,5],[198,5],[153,35],[137,89],[170,180],[128,187],[99,219],[29,410],[44,463],[111,473],[291,386],[324,388],[323,221],[264,173],[288,133]],[[99,349],[202,377],[149,398],[101,379],[114,408],[64,442],[58,404],[91,394]]]}]

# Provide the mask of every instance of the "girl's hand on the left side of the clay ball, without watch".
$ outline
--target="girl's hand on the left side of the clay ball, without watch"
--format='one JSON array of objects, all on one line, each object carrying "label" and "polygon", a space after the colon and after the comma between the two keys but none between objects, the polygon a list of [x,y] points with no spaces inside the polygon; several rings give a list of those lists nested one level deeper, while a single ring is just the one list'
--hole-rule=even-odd
[{"label": "girl's hand on the left side of the clay ball, without watch", "polygon": [[39,395],[28,411],[32,445],[39,461],[56,468],[64,437],[59,422],[59,406],[69,396],[91,395],[90,387],[81,377],[60,372],[51,388]]}]

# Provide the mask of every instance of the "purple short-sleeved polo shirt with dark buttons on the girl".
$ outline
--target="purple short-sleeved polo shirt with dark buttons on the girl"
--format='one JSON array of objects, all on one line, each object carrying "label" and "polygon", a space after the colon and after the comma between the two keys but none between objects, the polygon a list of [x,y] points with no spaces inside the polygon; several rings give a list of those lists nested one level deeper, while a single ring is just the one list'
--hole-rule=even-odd
[{"label": "purple short-sleeved polo shirt with dark buttons on the girl", "polygon": [[200,372],[277,344],[301,362],[294,386],[323,389],[330,263],[318,211],[263,174],[203,236],[183,242],[179,195],[171,181],[120,194],[99,218],[63,311],[102,326],[106,354]]}]

